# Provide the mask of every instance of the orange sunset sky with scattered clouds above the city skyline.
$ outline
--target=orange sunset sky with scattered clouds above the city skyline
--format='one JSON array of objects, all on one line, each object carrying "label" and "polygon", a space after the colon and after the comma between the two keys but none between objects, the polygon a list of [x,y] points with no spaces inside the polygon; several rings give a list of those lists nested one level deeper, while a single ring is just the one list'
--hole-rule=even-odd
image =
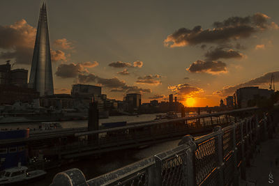
[{"label": "orange sunset sky with scattered clouds above the city skyline", "polygon": [[[279,1],[46,2],[55,93],[82,83],[116,100],[174,93],[204,107],[242,86],[268,88],[271,72],[278,90]],[[0,64],[30,70],[42,3],[1,0]]]}]

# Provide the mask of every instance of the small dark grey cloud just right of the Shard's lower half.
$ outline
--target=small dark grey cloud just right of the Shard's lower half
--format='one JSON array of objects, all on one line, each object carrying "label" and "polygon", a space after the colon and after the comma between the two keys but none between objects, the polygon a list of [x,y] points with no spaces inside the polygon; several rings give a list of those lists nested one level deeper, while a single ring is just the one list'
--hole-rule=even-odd
[{"label": "small dark grey cloud just right of the Shard's lower half", "polygon": [[80,64],[61,64],[57,67],[55,75],[62,78],[77,77],[84,70]]}]

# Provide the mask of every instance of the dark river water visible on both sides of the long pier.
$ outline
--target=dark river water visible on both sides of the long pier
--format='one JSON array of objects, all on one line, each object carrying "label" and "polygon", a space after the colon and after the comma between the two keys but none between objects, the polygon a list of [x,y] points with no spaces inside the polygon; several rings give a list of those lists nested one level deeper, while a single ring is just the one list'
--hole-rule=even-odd
[{"label": "dark river water visible on both sides of the long pier", "polygon": [[[137,121],[151,121],[156,118],[157,114],[142,114],[140,116],[110,116],[110,118],[100,119],[99,123],[109,123],[109,122],[117,122],[117,121],[127,121],[127,122],[137,122]],[[190,114],[194,115],[194,114]],[[181,114],[178,114],[180,117]],[[87,121],[62,121],[59,122],[63,128],[73,128],[73,127],[86,127]],[[20,123],[20,124],[1,124],[0,128],[8,128],[8,129],[26,129],[29,128],[38,128],[40,123]],[[86,176],[86,180],[91,178],[95,178],[104,173],[114,171],[115,169],[119,169],[122,166],[126,166],[128,164],[132,164],[139,160],[142,160],[146,157],[150,157],[152,155],[156,155],[157,153],[161,153],[165,150],[169,150],[175,148],[179,140],[172,140],[163,142],[161,144],[156,144],[153,146],[148,146],[146,148],[133,148],[128,150],[118,150],[112,153],[107,153],[102,155],[100,158],[96,159],[95,157],[84,157],[82,160],[78,162],[73,162],[71,164],[67,164],[65,166],[61,166],[55,169],[51,169],[47,171],[47,176],[39,180],[35,183],[30,183],[29,185],[50,185],[52,183],[52,179],[61,171],[66,171],[68,169],[77,168],[80,169],[84,175]]]}]

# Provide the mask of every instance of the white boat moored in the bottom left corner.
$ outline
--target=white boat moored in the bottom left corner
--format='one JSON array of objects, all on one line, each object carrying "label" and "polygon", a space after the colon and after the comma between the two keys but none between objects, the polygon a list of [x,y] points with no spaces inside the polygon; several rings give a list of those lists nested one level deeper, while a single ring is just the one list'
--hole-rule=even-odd
[{"label": "white boat moored in the bottom left corner", "polygon": [[14,185],[28,183],[42,178],[46,172],[43,170],[27,171],[27,166],[17,166],[0,172],[0,185]]}]

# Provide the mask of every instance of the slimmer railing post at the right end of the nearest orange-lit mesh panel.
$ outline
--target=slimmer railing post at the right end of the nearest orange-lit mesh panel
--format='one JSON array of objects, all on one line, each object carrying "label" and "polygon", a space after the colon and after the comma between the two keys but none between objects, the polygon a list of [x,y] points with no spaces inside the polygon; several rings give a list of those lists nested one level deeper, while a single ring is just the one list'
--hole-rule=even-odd
[{"label": "slimmer railing post at the right end of the nearest orange-lit mesh panel", "polygon": [[224,172],[223,172],[223,130],[222,127],[216,126],[213,132],[218,132],[217,135],[217,152],[218,152],[218,172],[219,172],[219,185],[224,185]]}]

